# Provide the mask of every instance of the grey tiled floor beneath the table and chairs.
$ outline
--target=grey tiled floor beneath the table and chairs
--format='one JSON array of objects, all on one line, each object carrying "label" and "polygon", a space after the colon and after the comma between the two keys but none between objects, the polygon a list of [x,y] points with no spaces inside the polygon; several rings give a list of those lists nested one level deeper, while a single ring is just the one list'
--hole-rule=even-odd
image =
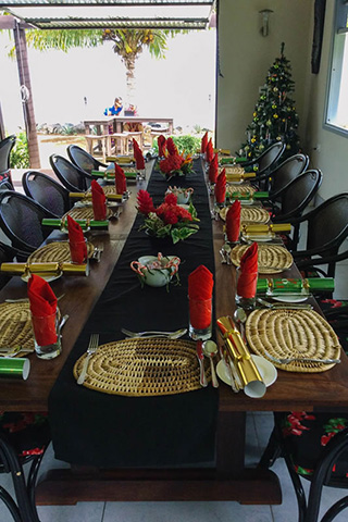
[{"label": "grey tiled floor beneath the table and chairs", "polygon": [[[272,413],[248,415],[246,457],[248,465],[259,461],[272,431]],[[49,449],[41,472],[62,464],[54,460]],[[79,502],[76,506],[42,506],[38,508],[38,512],[41,522],[296,522],[296,498],[283,459],[276,461],[273,471],[278,475],[282,485],[281,506],[240,506],[237,502]],[[0,485],[11,489],[7,475],[0,476]],[[327,509],[333,501],[344,496],[344,493],[339,489],[325,488],[323,508]],[[12,522],[2,504],[0,520]],[[340,513],[335,519],[335,522],[346,521],[347,512]]]}]

